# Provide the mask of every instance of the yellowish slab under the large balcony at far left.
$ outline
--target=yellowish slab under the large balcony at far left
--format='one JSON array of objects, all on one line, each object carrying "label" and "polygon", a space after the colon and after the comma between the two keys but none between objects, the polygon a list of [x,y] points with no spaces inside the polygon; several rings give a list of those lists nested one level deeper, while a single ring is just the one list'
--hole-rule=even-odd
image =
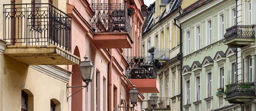
[{"label": "yellowish slab under the large balcony at far left", "polygon": [[76,65],[80,58],[56,45],[7,45],[4,55],[28,65]]}]

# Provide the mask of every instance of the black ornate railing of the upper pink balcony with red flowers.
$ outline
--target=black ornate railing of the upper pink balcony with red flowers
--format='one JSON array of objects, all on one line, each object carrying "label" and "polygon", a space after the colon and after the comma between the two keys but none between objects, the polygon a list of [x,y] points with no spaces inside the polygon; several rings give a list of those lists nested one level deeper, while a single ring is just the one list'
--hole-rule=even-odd
[{"label": "black ornate railing of the upper pink balcony with red flowers", "polygon": [[94,3],[91,8],[95,15],[90,25],[95,32],[128,32],[131,37],[131,17],[125,3]]}]

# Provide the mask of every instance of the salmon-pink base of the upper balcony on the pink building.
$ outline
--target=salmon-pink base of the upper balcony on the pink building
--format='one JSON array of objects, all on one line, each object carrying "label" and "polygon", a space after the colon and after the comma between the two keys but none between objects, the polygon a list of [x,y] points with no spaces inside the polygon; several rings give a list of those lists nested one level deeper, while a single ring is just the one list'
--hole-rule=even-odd
[{"label": "salmon-pink base of the upper balcony on the pink building", "polygon": [[133,43],[127,32],[95,33],[92,42],[98,49],[131,48]]}]

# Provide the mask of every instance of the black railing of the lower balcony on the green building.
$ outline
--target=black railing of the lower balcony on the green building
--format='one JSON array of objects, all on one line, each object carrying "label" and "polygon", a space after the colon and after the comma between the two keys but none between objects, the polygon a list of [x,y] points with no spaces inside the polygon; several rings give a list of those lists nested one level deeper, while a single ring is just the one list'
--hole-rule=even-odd
[{"label": "black railing of the lower balcony on the green building", "polygon": [[236,83],[227,85],[225,94],[226,94],[226,97],[255,96],[254,83],[236,82]]}]

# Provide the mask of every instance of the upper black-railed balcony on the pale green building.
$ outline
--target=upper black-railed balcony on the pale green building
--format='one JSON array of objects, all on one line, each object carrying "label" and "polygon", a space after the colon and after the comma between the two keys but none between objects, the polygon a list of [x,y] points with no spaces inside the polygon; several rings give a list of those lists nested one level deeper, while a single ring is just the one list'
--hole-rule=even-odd
[{"label": "upper black-railed balcony on the pale green building", "polygon": [[254,25],[234,25],[226,29],[225,45],[243,47],[255,42]]}]

